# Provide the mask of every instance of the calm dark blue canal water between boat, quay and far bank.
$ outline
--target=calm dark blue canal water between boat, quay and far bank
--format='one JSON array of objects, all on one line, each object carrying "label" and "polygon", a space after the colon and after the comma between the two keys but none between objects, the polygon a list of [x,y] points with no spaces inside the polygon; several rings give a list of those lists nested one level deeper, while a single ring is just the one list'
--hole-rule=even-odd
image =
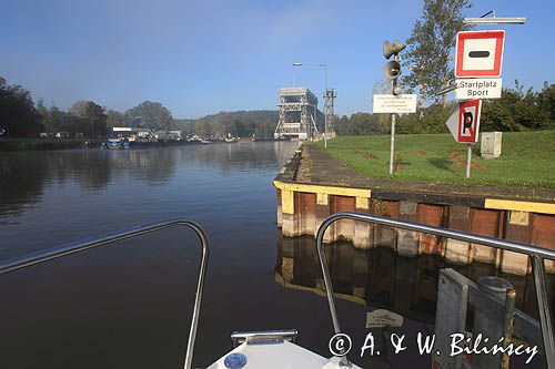
[{"label": "calm dark blue canal water between boat, quay and far bank", "polygon": [[[194,352],[208,366],[233,330],[296,328],[299,344],[330,356],[331,318],[310,237],[283,238],[272,180],[295,143],[255,142],[127,151],[0,153],[0,260],[168,218],[192,219],[211,242]],[[430,368],[416,334],[433,334],[433,256],[329,249],[343,330],[366,368]],[[0,368],[180,368],[199,246],[186,229],[97,248],[0,277]],[[488,266],[460,268],[473,279]],[[529,278],[507,276],[531,314]],[[366,312],[404,317],[407,350],[360,358]],[[516,360],[518,361],[518,360]],[[538,359],[529,367],[543,367]]]}]

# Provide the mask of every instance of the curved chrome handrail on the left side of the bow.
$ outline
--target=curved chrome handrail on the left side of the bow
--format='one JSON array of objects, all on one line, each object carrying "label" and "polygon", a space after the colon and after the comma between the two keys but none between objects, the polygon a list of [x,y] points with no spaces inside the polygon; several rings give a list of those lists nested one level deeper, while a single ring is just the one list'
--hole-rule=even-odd
[{"label": "curved chrome handrail on the left side of the bow", "polygon": [[77,254],[91,249],[98,246],[104,246],[119,240],[137,237],[152,232],[161,230],[173,226],[185,226],[193,229],[202,245],[202,259],[199,268],[199,279],[196,281],[196,293],[193,307],[193,316],[191,318],[191,329],[189,330],[189,341],[186,345],[185,362],[183,368],[190,369],[193,360],[194,341],[196,339],[196,327],[199,326],[199,314],[201,309],[202,293],[204,289],[204,276],[206,274],[206,265],[209,258],[209,242],[206,233],[194,222],[183,219],[171,219],[160,223],[133,227],[128,230],[114,232],[103,236],[83,239],[80,242],[49,248],[38,253],[24,255],[8,262],[0,263],[0,275],[30,267],[40,263],[53,260],[71,254]]}]

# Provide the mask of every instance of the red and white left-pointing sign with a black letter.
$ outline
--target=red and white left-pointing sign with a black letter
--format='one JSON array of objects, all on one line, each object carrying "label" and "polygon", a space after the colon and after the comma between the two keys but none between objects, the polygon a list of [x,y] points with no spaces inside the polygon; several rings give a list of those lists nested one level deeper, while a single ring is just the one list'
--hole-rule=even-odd
[{"label": "red and white left-pointing sign with a black letter", "polygon": [[478,141],[482,100],[468,100],[457,104],[446,124],[456,142],[476,143]]}]

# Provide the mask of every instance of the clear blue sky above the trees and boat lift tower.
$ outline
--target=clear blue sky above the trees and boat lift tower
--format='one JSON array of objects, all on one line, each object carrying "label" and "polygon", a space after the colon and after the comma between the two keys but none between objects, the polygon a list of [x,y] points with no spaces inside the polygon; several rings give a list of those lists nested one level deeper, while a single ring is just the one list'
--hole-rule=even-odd
[{"label": "clear blue sky above the trees and boat lift tower", "polygon": [[[416,0],[3,0],[0,75],[47,105],[67,109],[84,99],[124,111],[152,100],[175,117],[199,117],[275,109],[278,90],[293,84],[321,96],[322,70],[292,63],[326,63],[336,113],[370,112],[385,63],[382,42],[406,39],[421,7]],[[553,83],[555,1],[474,0],[467,16],[492,9],[528,20],[503,27],[504,84]]]}]

